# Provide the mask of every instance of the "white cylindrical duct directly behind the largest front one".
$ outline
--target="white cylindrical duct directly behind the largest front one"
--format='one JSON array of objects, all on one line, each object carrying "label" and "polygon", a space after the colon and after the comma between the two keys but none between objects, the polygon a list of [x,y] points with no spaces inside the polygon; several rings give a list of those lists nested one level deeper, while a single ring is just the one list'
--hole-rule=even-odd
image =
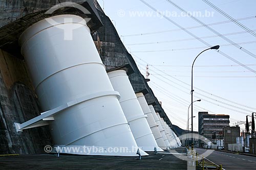
[{"label": "white cylindrical duct directly behind the largest front one", "polygon": [[[130,125],[138,147],[143,151],[154,151],[157,142],[147,123],[146,115],[140,107],[139,101],[133,90],[125,70],[115,70],[108,73],[114,90],[120,93],[120,105]],[[160,150],[158,148],[158,150]]]}]

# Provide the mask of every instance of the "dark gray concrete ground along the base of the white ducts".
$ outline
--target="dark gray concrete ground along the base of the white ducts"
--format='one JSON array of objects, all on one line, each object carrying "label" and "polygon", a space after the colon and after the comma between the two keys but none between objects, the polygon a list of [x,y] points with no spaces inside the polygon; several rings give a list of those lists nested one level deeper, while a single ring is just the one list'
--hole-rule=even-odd
[{"label": "dark gray concrete ground along the base of the white ducts", "polygon": [[[177,150],[184,153],[184,148]],[[187,169],[187,163],[172,154],[149,153],[136,157],[79,155],[20,155],[0,157],[0,169]]]}]

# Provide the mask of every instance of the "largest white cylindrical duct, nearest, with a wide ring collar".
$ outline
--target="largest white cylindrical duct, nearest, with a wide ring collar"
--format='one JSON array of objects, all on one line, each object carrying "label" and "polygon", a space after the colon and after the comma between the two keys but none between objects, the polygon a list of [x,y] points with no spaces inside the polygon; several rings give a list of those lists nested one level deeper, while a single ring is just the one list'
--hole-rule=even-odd
[{"label": "largest white cylindrical duct, nearest, with a wide ring collar", "polygon": [[[83,18],[58,15],[41,20],[20,36],[19,43],[41,109],[67,106],[51,118],[52,137],[60,147],[80,150],[62,153],[136,156],[138,147],[119,93],[111,85]],[[93,146],[102,149],[89,153]],[[127,150],[111,151],[110,147]]]}]

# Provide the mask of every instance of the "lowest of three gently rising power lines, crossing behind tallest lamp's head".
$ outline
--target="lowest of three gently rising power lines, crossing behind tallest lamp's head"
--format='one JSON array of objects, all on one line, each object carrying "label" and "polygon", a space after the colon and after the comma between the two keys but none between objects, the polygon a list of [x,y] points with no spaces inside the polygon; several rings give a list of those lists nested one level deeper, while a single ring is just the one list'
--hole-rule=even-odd
[{"label": "lowest of three gently rising power lines, crossing behind tallest lamp's head", "polygon": [[[255,43],[256,41],[247,41],[247,42],[240,42],[236,44],[251,44]],[[220,46],[231,46],[233,44],[222,44]],[[198,46],[198,47],[190,47],[190,48],[177,48],[177,49],[168,49],[168,50],[148,50],[148,51],[133,51],[133,53],[154,53],[154,52],[172,52],[172,51],[184,51],[184,50],[196,50],[207,48],[208,46]]]}]

